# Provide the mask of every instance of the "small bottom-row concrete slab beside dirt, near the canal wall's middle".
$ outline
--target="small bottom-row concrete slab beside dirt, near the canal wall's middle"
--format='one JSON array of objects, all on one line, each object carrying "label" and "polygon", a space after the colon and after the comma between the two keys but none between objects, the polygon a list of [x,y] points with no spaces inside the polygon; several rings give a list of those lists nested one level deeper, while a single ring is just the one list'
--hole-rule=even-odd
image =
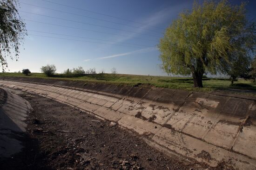
[{"label": "small bottom-row concrete slab beside dirt, near the canal wall's middle", "polygon": [[124,115],[124,113],[109,109],[107,107],[99,107],[93,113],[107,120],[116,121],[116,122],[120,120]]}]

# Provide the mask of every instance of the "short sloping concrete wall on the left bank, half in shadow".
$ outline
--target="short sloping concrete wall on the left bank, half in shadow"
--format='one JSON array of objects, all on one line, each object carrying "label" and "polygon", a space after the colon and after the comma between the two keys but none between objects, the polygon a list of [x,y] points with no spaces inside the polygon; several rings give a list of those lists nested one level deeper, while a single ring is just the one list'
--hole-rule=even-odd
[{"label": "short sloping concrete wall on the left bank, half in shadow", "polygon": [[20,139],[26,131],[30,104],[16,94],[0,88],[0,160],[23,148]]}]

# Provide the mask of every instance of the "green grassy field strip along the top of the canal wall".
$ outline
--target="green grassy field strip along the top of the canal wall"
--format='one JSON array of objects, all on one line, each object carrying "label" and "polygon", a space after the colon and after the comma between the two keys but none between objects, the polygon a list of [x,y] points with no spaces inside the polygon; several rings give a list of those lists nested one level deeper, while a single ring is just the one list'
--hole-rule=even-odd
[{"label": "green grassy field strip along the top of the canal wall", "polygon": [[[0,73],[0,76],[15,76],[24,77],[21,73]],[[67,77],[63,74],[55,74],[53,77],[47,77],[42,73],[32,73],[26,77],[38,77],[47,79],[60,79],[71,81],[84,82],[99,82],[116,85],[141,86],[141,87],[158,87],[158,88],[172,88],[183,89],[189,91],[211,92],[215,90],[225,89],[240,89],[256,91],[256,84],[239,79],[231,86],[228,79],[221,78],[204,78],[204,88],[193,88],[193,79],[184,77],[169,77],[169,76],[140,76],[140,75],[122,75],[122,74],[96,74],[85,76]]]}]

